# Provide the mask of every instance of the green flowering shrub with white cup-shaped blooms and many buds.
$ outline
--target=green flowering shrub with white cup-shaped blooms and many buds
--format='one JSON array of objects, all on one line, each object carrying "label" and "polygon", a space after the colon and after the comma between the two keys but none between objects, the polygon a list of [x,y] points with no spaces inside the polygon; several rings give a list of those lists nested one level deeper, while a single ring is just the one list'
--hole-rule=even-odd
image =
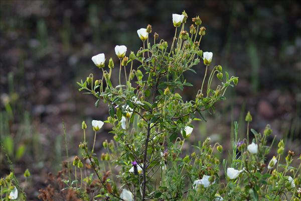
[{"label": "green flowering shrub with white cup-shaped blooms and many buds", "polygon": [[[249,113],[246,139],[237,139],[235,123],[230,160],[222,160],[221,164],[217,152],[222,152],[223,147],[211,144],[210,138],[198,142],[195,152],[183,156],[185,140],[196,135],[192,122],[206,121],[203,113],[214,112],[215,103],[225,99],[227,88],[238,83],[238,77],[229,76],[221,65],[211,66],[212,52],[203,53],[200,49],[206,33],[200,27],[201,19],[193,18],[189,31],[185,30],[187,20],[185,12],[173,14],[175,36],[171,45],[159,40],[157,33],[152,45],[150,25],[137,30],[142,41],[137,53],[129,53],[126,46],[117,45],[118,83],[111,81],[113,59],[106,62],[103,53],[92,57],[102,70],[102,78],[95,79],[90,74],[85,81],[78,82],[79,90],[95,96],[96,107],[100,101],[106,103],[109,117],[88,124],[94,130],[93,145],[87,143],[87,124],[82,123],[83,142],[79,148],[83,156],[75,156],[72,165],[65,165],[68,172],[59,177],[64,186],[62,191],[72,189],[82,200],[298,200],[301,197],[300,188],[297,190],[301,183],[297,174],[300,166],[290,166],[293,151],[280,164],[285,146],[280,141],[277,155],[266,161],[273,145],[267,144],[272,130],[267,126],[260,134],[251,129],[254,138],[250,143]],[[185,102],[181,90],[193,86],[187,82],[185,72],[196,73],[194,68],[200,61],[205,67],[202,85],[195,98]],[[221,82],[213,87],[215,76]],[[97,156],[94,145],[104,124],[112,126],[109,133],[114,141],[104,141],[106,153]],[[74,171],[70,172],[70,166]],[[48,200],[55,194],[47,193],[41,191],[40,198]]]}]

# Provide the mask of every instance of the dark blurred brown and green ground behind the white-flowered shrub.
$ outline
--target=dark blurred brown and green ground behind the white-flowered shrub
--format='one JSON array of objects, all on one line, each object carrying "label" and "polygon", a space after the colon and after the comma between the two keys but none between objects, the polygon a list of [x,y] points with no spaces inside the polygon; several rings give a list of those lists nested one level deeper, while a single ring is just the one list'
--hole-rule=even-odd
[{"label": "dark blurred brown and green ground behind the white-flowered shrub", "polygon": [[[300,154],[301,6],[296,1],[1,1],[1,177],[10,172],[8,153],[28,199],[36,200],[47,173],[68,160],[63,126],[73,158],[82,140],[81,122],[91,127],[92,119],[108,116],[106,105],[96,109],[95,99],[78,91],[76,82],[89,73],[101,78],[91,57],[105,53],[107,61],[113,57],[117,63],[115,45],[126,45],[127,54],[138,50],[136,30],[148,24],[150,41],[157,32],[170,42],[172,14],[183,10],[189,16],[186,30],[197,15],[206,27],[200,48],[214,53],[212,66],[221,64],[239,76],[191,140],[210,136],[227,154],[233,122],[243,138],[250,111],[253,129],[262,132],[270,124],[277,139]],[[186,74],[195,86],[182,92],[187,99],[195,97],[204,75],[202,63],[195,69],[197,75]],[[98,152],[104,139],[112,139],[109,130],[106,126],[97,136]],[[26,168],[32,174],[28,182]]]}]

